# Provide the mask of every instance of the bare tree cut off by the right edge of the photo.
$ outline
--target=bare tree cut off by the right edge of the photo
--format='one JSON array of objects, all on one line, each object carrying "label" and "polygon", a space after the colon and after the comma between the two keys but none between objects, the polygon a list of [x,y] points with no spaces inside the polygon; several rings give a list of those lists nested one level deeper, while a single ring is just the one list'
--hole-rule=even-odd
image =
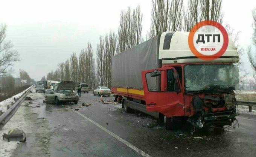
[{"label": "bare tree cut off by the right edge of the photo", "polygon": [[[256,9],[252,11],[253,14],[253,46],[256,47]],[[251,64],[251,67],[253,68],[253,76],[254,79],[256,79],[256,52],[253,51],[251,48],[252,46],[249,46],[247,48],[247,54],[248,54],[248,59]]]}]

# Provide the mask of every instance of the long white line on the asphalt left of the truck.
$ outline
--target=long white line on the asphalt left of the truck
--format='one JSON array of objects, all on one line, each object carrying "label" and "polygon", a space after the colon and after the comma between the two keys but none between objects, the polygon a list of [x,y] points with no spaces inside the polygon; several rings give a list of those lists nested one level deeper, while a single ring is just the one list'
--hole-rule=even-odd
[{"label": "long white line on the asphalt left of the truck", "polygon": [[135,147],[134,145],[132,145],[130,142],[125,141],[125,139],[120,138],[120,136],[114,134],[113,132],[111,132],[110,130],[106,129],[105,127],[101,126],[100,124],[96,123],[95,121],[91,120],[90,118],[86,117],[85,115],[81,114],[80,112],[76,112],[77,114],[81,115],[82,117],[84,117],[86,120],[90,121],[91,123],[93,123],[94,125],[98,126],[99,128],[101,128],[102,130],[104,130],[105,132],[107,132],[109,135],[113,136],[114,138],[116,138],[117,140],[119,140],[120,142],[122,142],[123,144],[127,145],[128,147],[130,147],[131,149],[133,149],[134,151],[136,151],[137,153],[139,153],[140,155],[142,155],[143,157],[151,157],[149,154],[145,153],[144,151],[140,150],[139,148]]}]

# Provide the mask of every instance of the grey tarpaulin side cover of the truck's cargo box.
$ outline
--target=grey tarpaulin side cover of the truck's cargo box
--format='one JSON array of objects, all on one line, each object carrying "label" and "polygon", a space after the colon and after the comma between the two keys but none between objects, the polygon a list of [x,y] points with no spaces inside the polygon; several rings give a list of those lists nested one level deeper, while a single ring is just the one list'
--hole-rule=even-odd
[{"label": "grey tarpaulin side cover of the truck's cargo box", "polygon": [[[142,71],[162,66],[162,61],[158,59],[160,36],[154,36],[112,57],[112,87],[143,89]],[[160,80],[156,78],[147,78],[147,81],[149,89],[160,87],[157,85]]]}]

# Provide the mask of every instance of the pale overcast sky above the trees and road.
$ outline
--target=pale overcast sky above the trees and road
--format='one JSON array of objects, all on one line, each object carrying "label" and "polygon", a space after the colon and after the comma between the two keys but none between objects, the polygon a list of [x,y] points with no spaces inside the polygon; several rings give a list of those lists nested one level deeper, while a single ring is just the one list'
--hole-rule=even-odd
[{"label": "pale overcast sky above the trees and road", "polygon": [[[140,5],[145,36],[151,23],[151,3],[151,0],[1,0],[0,24],[8,25],[7,39],[22,59],[15,63],[13,76],[18,77],[18,70],[23,69],[39,81],[73,52],[86,48],[88,41],[95,52],[100,35],[110,30],[117,33],[120,10],[129,6]],[[223,24],[241,31],[239,43],[244,49],[251,44],[253,8],[256,0],[222,0]],[[246,52],[242,61],[245,70],[251,72]]]}]

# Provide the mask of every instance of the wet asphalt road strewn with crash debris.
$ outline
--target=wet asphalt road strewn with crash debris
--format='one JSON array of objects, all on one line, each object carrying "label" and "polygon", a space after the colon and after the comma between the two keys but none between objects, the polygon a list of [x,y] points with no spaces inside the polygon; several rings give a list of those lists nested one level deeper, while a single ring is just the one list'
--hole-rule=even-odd
[{"label": "wet asphalt road strewn with crash debris", "polygon": [[[43,102],[44,93],[35,96],[34,104]],[[239,128],[191,134],[187,124],[168,131],[151,116],[125,113],[121,105],[103,104],[99,99],[82,93],[75,106],[27,108],[34,131],[13,156],[256,156],[255,115],[239,115]],[[91,105],[79,108],[82,103]]]}]

